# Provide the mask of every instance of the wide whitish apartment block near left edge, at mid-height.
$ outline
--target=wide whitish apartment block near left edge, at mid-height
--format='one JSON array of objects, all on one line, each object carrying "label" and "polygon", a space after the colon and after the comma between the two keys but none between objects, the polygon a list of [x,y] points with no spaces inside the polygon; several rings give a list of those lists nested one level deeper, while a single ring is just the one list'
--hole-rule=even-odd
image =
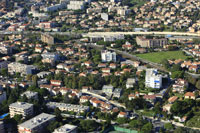
[{"label": "wide whitish apartment block near left edge, at mid-height", "polygon": [[8,72],[10,74],[21,73],[21,75],[33,74],[36,67],[33,65],[21,64],[18,62],[12,62],[8,64]]}]

